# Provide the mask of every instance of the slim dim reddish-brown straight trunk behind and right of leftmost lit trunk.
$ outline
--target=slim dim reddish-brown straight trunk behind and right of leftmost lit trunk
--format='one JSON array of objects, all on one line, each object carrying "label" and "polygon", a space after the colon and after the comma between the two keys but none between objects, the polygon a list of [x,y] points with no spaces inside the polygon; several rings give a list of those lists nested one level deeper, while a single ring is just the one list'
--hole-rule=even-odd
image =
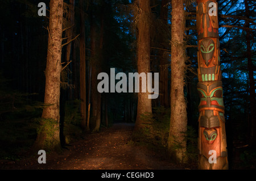
[{"label": "slim dim reddish-brown straight trunk behind and right of leftmost lit trunk", "polygon": [[81,99],[81,127],[86,129],[86,65],[85,65],[85,19],[84,1],[79,1],[80,6],[80,99]]}]

